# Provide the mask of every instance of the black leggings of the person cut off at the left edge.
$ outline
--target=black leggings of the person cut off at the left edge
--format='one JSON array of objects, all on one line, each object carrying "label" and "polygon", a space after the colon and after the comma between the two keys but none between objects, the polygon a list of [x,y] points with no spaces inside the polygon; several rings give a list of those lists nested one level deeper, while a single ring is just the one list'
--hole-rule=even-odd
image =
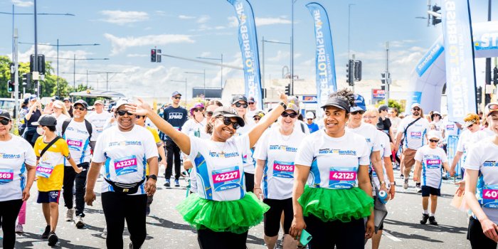
[{"label": "black leggings of the person cut off at the left edge", "polygon": [[4,231],[4,248],[14,248],[16,243],[16,219],[23,200],[0,201],[0,226]]}]

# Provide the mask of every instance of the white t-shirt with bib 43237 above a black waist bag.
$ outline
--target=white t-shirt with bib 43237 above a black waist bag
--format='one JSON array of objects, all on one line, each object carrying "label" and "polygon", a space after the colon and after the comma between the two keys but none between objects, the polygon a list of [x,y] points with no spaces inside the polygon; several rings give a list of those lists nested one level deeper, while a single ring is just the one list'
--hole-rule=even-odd
[{"label": "white t-shirt with bib 43237 above a black waist bag", "polygon": [[[157,145],[152,133],[134,125],[129,132],[118,127],[105,129],[97,139],[92,161],[105,162],[104,176],[110,181],[132,184],[145,178],[147,159],[158,157]],[[145,194],[144,184],[137,194]],[[102,181],[102,193],[114,191],[107,181]]]}]

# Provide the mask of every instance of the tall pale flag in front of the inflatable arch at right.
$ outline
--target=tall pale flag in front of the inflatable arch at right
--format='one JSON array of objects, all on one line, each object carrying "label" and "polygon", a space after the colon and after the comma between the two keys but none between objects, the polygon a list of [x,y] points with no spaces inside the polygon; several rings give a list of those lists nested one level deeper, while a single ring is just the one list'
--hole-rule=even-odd
[{"label": "tall pale flag in front of the inflatable arch at right", "polygon": [[448,117],[450,121],[462,122],[467,113],[477,112],[469,1],[445,0],[441,9]]}]

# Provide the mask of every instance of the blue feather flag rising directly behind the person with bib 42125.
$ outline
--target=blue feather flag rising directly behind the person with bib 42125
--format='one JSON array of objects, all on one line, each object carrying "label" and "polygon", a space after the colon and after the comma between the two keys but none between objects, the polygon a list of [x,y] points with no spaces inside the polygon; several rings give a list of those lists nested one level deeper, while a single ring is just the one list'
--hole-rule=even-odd
[{"label": "blue feather flag rising directly behind the person with bib 42125", "polygon": [[306,4],[314,20],[314,38],[317,44],[316,80],[318,112],[327,102],[332,92],[337,92],[336,70],[334,63],[334,48],[332,47],[332,33],[330,32],[329,16],[324,7],[318,3]]}]

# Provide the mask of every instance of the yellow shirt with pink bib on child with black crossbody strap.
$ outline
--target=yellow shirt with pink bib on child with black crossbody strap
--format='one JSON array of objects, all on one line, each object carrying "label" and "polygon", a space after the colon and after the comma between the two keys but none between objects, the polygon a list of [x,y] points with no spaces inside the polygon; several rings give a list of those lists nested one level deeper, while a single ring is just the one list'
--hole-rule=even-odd
[{"label": "yellow shirt with pink bib on child with black crossbody strap", "polygon": [[[43,136],[36,139],[35,150],[36,157],[40,157],[41,151],[48,145],[43,142]],[[47,149],[43,157],[38,161],[36,166],[38,176],[37,185],[38,191],[46,192],[53,190],[60,190],[63,186],[64,180],[64,158],[69,156],[68,144],[64,139],[58,139],[50,148]],[[53,166],[53,170],[48,178],[42,177],[38,171],[40,166]]]}]

